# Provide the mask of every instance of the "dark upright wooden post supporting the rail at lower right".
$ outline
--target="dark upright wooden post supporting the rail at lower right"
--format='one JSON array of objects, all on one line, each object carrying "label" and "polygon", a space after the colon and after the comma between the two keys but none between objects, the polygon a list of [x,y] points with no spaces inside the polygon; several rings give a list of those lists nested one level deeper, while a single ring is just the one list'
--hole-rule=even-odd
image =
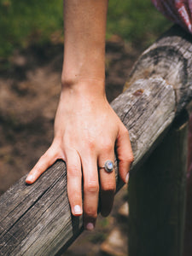
[{"label": "dark upright wooden post supporting the rail at lower right", "polygon": [[182,256],[188,114],[181,113],[129,183],[129,256]]}]

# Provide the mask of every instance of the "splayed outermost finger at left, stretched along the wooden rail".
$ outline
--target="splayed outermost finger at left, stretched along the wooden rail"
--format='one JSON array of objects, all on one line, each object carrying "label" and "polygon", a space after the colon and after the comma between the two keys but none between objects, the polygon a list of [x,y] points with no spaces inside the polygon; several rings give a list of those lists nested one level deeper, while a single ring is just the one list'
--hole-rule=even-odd
[{"label": "splayed outermost finger at left, stretched along the wooden rail", "polygon": [[50,148],[41,156],[37,164],[32,168],[31,172],[29,172],[26,177],[26,183],[34,183],[38,177],[40,177],[42,173],[44,173],[49,166],[52,166],[55,163],[55,160],[59,158],[63,159],[63,157],[58,154],[58,148],[56,150],[52,144],[52,146],[50,146]]}]

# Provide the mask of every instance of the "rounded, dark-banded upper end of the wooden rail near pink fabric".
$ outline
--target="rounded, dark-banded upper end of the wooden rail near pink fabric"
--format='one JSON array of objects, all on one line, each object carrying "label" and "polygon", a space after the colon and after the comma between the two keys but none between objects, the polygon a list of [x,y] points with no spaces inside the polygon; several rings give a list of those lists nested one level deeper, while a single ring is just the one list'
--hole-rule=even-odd
[{"label": "rounded, dark-banded upper end of the wooden rail near pink fabric", "polygon": [[192,96],[192,35],[180,26],[172,26],[143,52],[125,84],[127,89],[137,79],[162,78],[176,93],[177,112]]}]

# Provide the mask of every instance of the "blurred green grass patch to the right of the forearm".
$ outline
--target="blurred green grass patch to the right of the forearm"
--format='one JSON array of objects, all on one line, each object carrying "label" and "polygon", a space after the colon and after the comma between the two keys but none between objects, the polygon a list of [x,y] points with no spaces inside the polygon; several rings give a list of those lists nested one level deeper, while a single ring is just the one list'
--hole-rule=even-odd
[{"label": "blurred green grass patch to the right of the forearm", "polygon": [[117,34],[132,44],[146,47],[171,26],[150,0],[109,0],[107,37]]}]

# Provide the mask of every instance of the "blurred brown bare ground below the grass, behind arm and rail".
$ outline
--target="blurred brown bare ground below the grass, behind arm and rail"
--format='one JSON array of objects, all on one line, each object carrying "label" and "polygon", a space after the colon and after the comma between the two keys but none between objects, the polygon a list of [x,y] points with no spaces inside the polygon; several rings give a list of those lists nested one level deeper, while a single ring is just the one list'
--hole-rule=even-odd
[{"label": "blurred brown bare ground below the grass, behind arm and rail", "polygon": [[[52,141],[61,87],[62,51],[61,44],[15,50],[10,59],[11,66],[0,72],[0,195],[30,171]],[[117,37],[107,43],[106,90],[109,102],[122,91],[141,51]],[[109,233],[113,231],[114,240],[118,241],[119,230],[126,230],[125,217],[118,213],[125,197],[126,189],[117,195],[119,199],[110,217],[99,218],[96,231],[91,234],[84,232],[79,237],[80,241],[76,241],[63,255],[107,253]],[[121,247],[125,248],[126,240],[124,243]],[[112,253],[123,255],[118,249],[116,254],[113,251],[110,255]]]}]

